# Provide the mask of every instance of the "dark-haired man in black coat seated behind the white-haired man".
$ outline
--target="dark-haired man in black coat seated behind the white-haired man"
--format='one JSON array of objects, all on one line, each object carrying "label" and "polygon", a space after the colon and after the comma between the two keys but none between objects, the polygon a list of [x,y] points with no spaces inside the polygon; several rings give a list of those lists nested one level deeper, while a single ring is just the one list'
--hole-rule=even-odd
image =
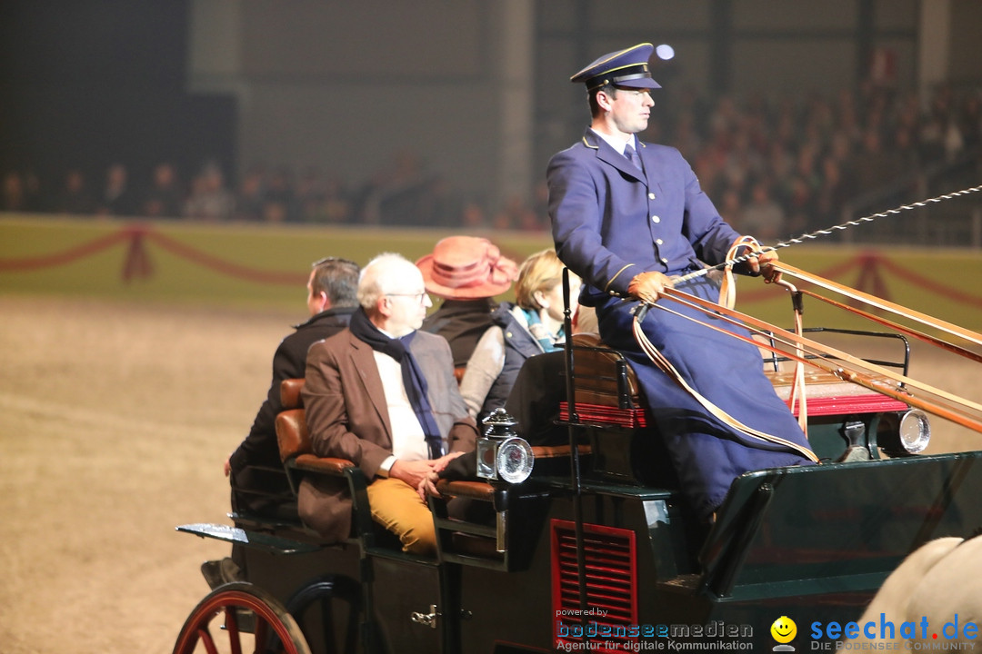
[{"label": "dark-haired man in black coat seated behind the white-haired man", "polygon": [[[276,416],[283,410],[280,384],[303,377],[310,345],[348,327],[357,308],[358,265],[348,259],[327,257],[312,264],[307,277],[307,310],[310,319],[298,325],[276,348],[273,380],[259,407],[252,428],[225,462],[232,485],[232,510],[272,518],[297,519],[297,505],[280,461],[276,440]],[[232,558],[207,561],[201,566],[208,583],[242,579],[244,561],[233,546]]]}]

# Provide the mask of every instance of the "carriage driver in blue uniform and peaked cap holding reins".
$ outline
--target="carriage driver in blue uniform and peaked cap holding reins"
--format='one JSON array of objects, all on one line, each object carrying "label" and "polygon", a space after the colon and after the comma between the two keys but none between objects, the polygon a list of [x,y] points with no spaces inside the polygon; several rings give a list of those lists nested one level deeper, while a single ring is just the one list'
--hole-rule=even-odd
[{"label": "carriage driver in blue uniform and peaked cap holding reins", "polygon": [[[648,126],[651,90],[660,88],[648,71],[652,51],[650,43],[635,45],[573,75],[573,82],[586,84],[592,122],[578,143],[549,162],[549,216],[560,259],[583,278],[580,303],[596,307],[601,338],[631,362],[682,489],[709,520],[737,476],[807,464],[814,455],[764,376],[753,345],[657,308],[642,324],[689,386],[738,424],[777,442],[713,416],[633,338],[631,310],[637,300],[654,302],[673,285],[672,277],[722,263],[741,237],[720,217],[677,149],[635,135]],[[744,272],[771,278],[776,259],[774,252],[762,253]],[[709,276],[676,288],[713,301],[719,297]],[[660,301],[700,323],[736,330],[679,303]]]}]

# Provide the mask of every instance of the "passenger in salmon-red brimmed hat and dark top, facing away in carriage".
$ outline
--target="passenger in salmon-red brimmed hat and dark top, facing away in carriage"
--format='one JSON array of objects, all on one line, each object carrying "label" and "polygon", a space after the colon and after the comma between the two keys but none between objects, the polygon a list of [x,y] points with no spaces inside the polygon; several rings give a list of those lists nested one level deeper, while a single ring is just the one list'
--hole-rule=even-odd
[{"label": "passenger in salmon-red brimmed hat and dark top, facing away in carriage", "polygon": [[448,236],[416,262],[426,290],[443,298],[420,327],[450,343],[454,367],[464,368],[481,335],[493,325],[494,297],[512,287],[518,266],[486,238]]}]

